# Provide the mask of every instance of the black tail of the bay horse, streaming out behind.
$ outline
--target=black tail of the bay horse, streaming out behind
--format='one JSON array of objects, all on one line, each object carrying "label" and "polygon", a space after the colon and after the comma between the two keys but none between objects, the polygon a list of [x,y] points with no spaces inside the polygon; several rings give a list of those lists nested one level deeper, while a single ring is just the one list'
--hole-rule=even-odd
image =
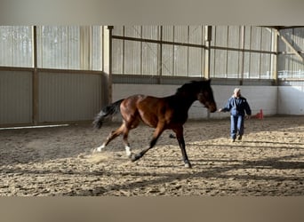
[{"label": "black tail of the bay horse, streaming out behind", "polygon": [[112,115],[116,115],[118,112],[120,112],[120,104],[124,101],[124,99],[120,99],[107,107],[104,107],[101,109],[100,113],[96,115],[93,125],[95,128],[100,129],[102,126],[102,123],[105,121],[107,117],[110,117]]}]

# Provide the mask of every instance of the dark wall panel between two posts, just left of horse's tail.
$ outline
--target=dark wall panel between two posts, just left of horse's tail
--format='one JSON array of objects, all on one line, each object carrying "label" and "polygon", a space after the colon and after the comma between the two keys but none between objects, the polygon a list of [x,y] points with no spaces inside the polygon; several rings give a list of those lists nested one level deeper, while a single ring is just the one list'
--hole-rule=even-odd
[{"label": "dark wall panel between two posts, just left of horse's tail", "polygon": [[101,75],[39,74],[39,123],[92,120],[101,100]]}]

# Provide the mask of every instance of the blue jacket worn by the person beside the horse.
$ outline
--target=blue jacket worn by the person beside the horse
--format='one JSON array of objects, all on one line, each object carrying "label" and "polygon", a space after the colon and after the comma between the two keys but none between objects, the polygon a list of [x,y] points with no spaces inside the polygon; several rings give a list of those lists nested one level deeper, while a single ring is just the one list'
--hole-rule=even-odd
[{"label": "blue jacket worn by the person beside the horse", "polygon": [[222,112],[230,111],[231,115],[252,115],[252,110],[249,107],[247,100],[244,97],[231,97],[225,107],[223,107]]}]

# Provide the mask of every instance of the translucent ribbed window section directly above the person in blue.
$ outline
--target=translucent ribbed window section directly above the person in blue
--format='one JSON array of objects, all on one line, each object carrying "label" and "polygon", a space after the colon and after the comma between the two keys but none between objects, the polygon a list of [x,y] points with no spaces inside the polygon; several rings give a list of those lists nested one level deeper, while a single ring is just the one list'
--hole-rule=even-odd
[{"label": "translucent ribbed window section directly above the person in blue", "polygon": [[212,77],[271,78],[271,29],[217,26],[212,37]]}]

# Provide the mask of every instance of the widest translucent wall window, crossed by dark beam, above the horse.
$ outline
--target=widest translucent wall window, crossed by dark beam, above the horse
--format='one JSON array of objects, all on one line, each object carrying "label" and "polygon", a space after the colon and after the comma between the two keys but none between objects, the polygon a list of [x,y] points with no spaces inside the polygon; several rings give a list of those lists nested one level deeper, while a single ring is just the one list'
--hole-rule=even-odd
[{"label": "widest translucent wall window, crossed by dark beam, above the horse", "polygon": [[202,26],[115,26],[113,35],[114,74],[202,76]]}]

